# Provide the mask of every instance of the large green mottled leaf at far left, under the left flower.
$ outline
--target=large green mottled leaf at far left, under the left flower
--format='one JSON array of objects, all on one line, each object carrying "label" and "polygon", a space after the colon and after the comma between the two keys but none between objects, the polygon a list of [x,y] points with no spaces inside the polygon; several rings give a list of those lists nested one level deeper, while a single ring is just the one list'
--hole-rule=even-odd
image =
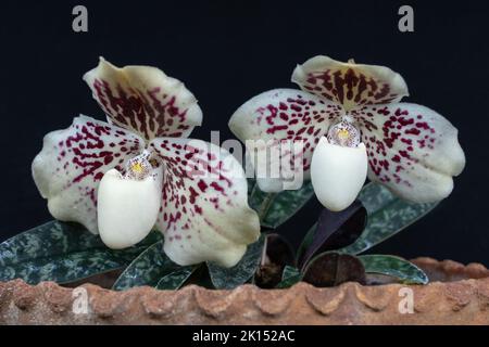
[{"label": "large green mottled leaf at far left, under the left flower", "polygon": [[154,232],[134,247],[113,250],[80,224],[50,221],[0,244],[0,281],[74,282],[126,267],[159,239]]}]

